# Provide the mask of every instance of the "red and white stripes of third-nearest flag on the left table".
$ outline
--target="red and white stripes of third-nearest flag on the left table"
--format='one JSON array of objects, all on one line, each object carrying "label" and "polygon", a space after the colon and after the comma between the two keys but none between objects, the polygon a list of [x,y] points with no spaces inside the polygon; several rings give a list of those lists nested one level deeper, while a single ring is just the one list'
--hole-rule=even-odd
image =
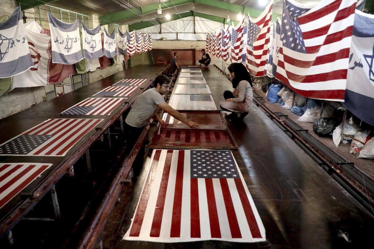
[{"label": "red and white stripes of third-nearest flag on the left table", "polygon": [[[87,98],[74,106],[95,106],[95,109],[86,113],[85,115],[109,115],[120,103],[124,102],[126,98]],[[74,106],[66,109],[66,112]]]}]

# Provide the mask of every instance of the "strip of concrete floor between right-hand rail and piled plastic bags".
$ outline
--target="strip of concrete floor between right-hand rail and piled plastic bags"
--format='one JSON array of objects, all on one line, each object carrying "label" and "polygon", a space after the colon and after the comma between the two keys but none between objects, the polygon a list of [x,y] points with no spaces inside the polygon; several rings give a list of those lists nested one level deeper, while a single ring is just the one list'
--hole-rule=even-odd
[{"label": "strip of concrete floor between right-hand rail and piled plastic bags", "polygon": [[[256,90],[256,92],[260,96],[265,96],[265,93],[262,90]],[[266,97],[264,98],[264,100],[266,100]],[[350,154],[349,153],[350,143],[348,144],[340,143],[339,147],[336,147],[334,142],[332,141],[332,137],[319,137],[316,133],[314,133],[313,123],[298,121],[297,119],[300,118],[299,115],[292,113],[290,110],[282,108],[278,103],[273,104],[273,103],[269,103],[266,100],[265,105],[269,107],[273,112],[282,112],[283,114],[288,115],[290,119],[292,119],[294,122],[296,122],[298,125],[300,125],[304,129],[309,130],[309,133],[315,136],[316,138],[318,138],[318,140],[322,141],[322,143],[326,144],[328,147],[330,147],[332,150],[337,152],[343,158],[347,159],[349,162],[355,163],[355,166],[359,168],[362,172],[364,172],[371,178],[374,178],[374,160],[356,158],[356,156],[354,156],[353,154]]]}]

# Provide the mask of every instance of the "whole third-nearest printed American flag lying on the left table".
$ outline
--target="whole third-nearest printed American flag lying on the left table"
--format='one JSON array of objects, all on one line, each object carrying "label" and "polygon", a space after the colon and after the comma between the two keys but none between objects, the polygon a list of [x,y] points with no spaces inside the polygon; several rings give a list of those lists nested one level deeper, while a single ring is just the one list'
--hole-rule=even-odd
[{"label": "whole third-nearest printed American flag lying on the left table", "polygon": [[61,112],[66,115],[109,115],[125,98],[87,98]]}]

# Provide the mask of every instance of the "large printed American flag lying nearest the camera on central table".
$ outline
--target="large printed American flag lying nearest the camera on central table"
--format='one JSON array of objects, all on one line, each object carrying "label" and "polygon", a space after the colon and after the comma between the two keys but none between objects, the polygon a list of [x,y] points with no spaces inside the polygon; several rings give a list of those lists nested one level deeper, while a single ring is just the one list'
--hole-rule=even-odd
[{"label": "large printed American flag lying nearest the camera on central table", "polygon": [[154,150],[123,239],[162,243],[266,240],[230,150]]}]

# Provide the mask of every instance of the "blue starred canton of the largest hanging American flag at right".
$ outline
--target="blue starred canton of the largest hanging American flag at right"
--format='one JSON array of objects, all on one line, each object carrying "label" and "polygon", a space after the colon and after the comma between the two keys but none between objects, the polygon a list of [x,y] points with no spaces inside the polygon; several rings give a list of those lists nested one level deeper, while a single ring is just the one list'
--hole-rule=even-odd
[{"label": "blue starred canton of the largest hanging American flag at right", "polygon": [[286,0],[283,1],[281,41],[284,47],[306,53],[303,34],[297,18],[308,10],[297,7]]}]

